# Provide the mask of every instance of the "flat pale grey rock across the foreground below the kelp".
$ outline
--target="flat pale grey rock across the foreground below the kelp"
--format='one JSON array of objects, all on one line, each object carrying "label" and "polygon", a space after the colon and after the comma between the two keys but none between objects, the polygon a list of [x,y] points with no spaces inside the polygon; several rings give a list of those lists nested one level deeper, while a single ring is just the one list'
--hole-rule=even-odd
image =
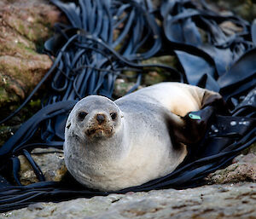
[{"label": "flat pale grey rock across the foreground below the kelp", "polygon": [[212,185],[184,190],[111,194],[108,197],[38,203],[1,218],[255,218],[256,184]]}]

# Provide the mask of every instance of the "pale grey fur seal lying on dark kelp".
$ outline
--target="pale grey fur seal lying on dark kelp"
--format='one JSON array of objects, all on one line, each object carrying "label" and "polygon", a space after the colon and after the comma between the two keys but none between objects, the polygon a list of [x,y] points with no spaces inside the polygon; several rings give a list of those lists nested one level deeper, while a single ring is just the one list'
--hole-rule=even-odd
[{"label": "pale grey fur seal lying on dark kelp", "polygon": [[116,101],[87,96],[67,118],[67,170],[101,191],[166,176],[183,161],[191,141],[184,117],[216,99],[218,93],[180,83],[155,84]]}]

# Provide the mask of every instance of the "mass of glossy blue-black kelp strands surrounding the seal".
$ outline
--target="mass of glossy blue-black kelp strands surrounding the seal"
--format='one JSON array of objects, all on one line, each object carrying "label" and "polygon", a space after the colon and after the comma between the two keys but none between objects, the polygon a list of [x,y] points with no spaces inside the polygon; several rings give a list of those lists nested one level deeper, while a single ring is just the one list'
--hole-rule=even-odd
[{"label": "mass of glossy blue-black kelp strands surrounding the seal", "polygon": [[[207,174],[230,164],[256,140],[255,22],[251,25],[236,15],[215,13],[204,1],[165,0],[157,9],[149,0],[51,3],[66,14],[69,24],[55,24],[54,37],[44,44],[45,51],[55,57],[53,66],[26,101],[2,121],[19,112],[50,78],[42,109],[0,148],[0,211],[37,201],[108,195],[82,187],[72,178],[45,182],[31,151],[36,147],[61,148],[67,115],[75,103],[86,95],[113,99],[114,82],[127,77],[127,71],[135,72],[133,79],[137,81],[128,93],[138,88],[144,73],[157,67],[168,72],[172,81],[220,92],[230,111],[211,111],[207,134],[189,146],[189,155],[171,174],[112,193],[199,186]],[[225,21],[241,31],[226,34],[221,27]],[[160,55],[176,55],[178,68],[142,64]],[[202,111],[194,113],[201,115]],[[34,137],[38,132],[40,142]],[[20,154],[32,165],[39,182],[21,185]],[[7,180],[10,170],[15,184]]]}]

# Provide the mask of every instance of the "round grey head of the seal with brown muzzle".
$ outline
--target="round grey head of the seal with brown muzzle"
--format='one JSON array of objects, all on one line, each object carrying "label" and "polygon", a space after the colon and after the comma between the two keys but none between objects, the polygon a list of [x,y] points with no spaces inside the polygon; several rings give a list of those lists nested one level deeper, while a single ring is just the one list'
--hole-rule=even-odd
[{"label": "round grey head of the seal with brown muzzle", "polygon": [[79,101],[67,119],[66,131],[72,130],[83,141],[109,138],[119,130],[122,113],[107,97],[90,95]]}]

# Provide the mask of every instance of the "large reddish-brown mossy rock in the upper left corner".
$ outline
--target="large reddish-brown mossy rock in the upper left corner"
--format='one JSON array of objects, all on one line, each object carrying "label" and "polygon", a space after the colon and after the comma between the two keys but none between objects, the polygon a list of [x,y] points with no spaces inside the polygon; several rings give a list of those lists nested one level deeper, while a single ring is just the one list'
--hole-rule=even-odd
[{"label": "large reddish-brown mossy rock in the upper left corner", "polygon": [[60,14],[48,1],[1,1],[0,107],[24,99],[49,70],[52,61],[38,50]]}]

